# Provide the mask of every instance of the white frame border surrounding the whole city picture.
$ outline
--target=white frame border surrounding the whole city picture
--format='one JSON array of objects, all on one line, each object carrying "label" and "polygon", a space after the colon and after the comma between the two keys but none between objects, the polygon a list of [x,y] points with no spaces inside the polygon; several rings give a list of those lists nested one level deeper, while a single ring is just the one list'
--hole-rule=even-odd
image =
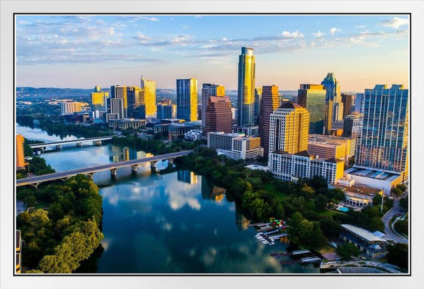
[{"label": "white frame border surrounding the whole city picture", "polygon": [[[424,288],[424,1],[1,1],[0,288]],[[412,13],[411,276],[13,276],[13,13]],[[378,284],[378,285],[377,285]]]}]

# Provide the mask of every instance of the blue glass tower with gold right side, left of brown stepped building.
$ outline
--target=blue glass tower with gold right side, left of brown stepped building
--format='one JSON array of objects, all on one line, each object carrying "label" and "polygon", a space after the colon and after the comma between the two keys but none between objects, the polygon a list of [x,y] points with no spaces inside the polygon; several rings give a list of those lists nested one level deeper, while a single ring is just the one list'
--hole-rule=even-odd
[{"label": "blue glass tower with gold right side, left of brown stepped building", "polygon": [[176,117],[197,120],[197,79],[176,80]]}]

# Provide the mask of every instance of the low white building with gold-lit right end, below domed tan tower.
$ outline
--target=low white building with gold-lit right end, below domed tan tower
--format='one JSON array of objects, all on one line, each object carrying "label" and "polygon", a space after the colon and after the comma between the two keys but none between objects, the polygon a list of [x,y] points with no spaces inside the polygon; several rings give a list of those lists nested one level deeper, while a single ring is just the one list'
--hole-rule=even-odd
[{"label": "low white building with gold-lit right end, below domed tan tower", "polygon": [[299,178],[320,176],[331,184],[343,177],[344,163],[338,158],[321,158],[308,151],[289,154],[278,150],[269,153],[268,169],[273,177],[283,181],[298,181]]}]

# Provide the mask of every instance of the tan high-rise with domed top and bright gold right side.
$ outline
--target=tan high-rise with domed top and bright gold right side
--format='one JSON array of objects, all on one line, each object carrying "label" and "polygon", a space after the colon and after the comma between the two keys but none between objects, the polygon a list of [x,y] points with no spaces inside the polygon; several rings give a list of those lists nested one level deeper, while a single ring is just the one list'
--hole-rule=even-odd
[{"label": "tan high-rise with domed top and bright gold right side", "polygon": [[269,123],[269,154],[287,151],[296,154],[308,149],[309,112],[297,103],[287,102],[274,110]]}]

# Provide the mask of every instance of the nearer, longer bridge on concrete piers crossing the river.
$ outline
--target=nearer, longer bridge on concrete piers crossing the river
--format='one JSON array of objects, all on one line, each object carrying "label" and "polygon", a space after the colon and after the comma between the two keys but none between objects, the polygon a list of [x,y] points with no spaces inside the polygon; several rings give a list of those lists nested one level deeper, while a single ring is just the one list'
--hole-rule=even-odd
[{"label": "nearer, longer bridge on concrete piers crossing the river", "polygon": [[40,175],[35,177],[27,177],[24,179],[17,179],[16,186],[26,186],[31,185],[34,187],[38,187],[39,184],[44,181],[54,181],[56,179],[66,180],[70,177],[73,177],[78,174],[88,175],[89,177],[93,177],[95,172],[102,172],[105,170],[110,170],[111,176],[116,176],[116,170],[119,168],[129,167],[131,166],[131,170],[133,172],[137,172],[137,167],[142,163],[151,163],[151,168],[156,170],[156,163],[158,161],[168,160],[170,164],[174,163],[174,158],[179,158],[181,156],[185,156],[191,154],[194,150],[189,151],[177,151],[171,154],[161,154],[159,156],[151,156],[149,158],[138,158],[136,160],[130,161],[121,161],[119,163],[108,163],[106,165],[96,165],[89,168],[79,168],[76,170],[67,170],[66,172],[55,172],[53,174],[48,175]]}]

